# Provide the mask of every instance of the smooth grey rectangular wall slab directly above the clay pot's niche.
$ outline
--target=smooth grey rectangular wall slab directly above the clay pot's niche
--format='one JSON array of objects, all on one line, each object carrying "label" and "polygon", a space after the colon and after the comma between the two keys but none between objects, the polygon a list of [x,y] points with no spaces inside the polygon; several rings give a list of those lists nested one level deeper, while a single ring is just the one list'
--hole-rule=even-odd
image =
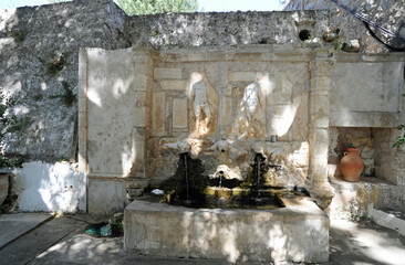
[{"label": "smooth grey rectangular wall slab directly above the clay pot's niche", "polygon": [[331,110],[397,113],[403,68],[402,62],[334,64]]}]

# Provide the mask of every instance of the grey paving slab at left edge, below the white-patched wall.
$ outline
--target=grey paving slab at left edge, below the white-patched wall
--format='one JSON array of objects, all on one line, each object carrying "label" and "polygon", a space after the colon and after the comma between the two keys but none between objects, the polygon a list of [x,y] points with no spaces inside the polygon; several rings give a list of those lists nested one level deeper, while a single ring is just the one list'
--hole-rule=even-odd
[{"label": "grey paving slab at left edge, below the white-patched wall", "polygon": [[0,250],[51,218],[49,213],[0,214]]}]

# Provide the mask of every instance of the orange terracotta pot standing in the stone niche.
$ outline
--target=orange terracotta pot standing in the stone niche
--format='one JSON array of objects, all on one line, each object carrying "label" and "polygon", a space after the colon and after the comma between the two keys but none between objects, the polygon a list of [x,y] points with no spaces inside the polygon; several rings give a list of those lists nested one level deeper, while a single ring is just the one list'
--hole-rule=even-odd
[{"label": "orange terracotta pot standing in the stone niche", "polygon": [[363,159],[359,156],[359,148],[347,148],[341,159],[343,179],[346,181],[359,181],[360,174],[364,169]]}]

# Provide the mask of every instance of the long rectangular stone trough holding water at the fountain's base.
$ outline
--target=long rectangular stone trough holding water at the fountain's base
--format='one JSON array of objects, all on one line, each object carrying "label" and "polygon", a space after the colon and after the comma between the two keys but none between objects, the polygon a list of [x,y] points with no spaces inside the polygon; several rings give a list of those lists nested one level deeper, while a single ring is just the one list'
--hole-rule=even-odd
[{"label": "long rectangular stone trough holding water at the fountain's base", "polygon": [[232,263],[328,262],[328,215],[308,199],[280,199],[285,208],[276,210],[191,209],[135,200],[125,209],[125,250]]}]

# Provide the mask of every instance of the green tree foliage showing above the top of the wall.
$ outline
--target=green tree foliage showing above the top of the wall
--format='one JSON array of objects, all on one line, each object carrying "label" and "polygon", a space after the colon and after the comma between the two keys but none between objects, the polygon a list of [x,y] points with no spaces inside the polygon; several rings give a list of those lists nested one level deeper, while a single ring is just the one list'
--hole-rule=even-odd
[{"label": "green tree foliage showing above the top of the wall", "polygon": [[127,14],[196,12],[198,0],[115,0]]}]

